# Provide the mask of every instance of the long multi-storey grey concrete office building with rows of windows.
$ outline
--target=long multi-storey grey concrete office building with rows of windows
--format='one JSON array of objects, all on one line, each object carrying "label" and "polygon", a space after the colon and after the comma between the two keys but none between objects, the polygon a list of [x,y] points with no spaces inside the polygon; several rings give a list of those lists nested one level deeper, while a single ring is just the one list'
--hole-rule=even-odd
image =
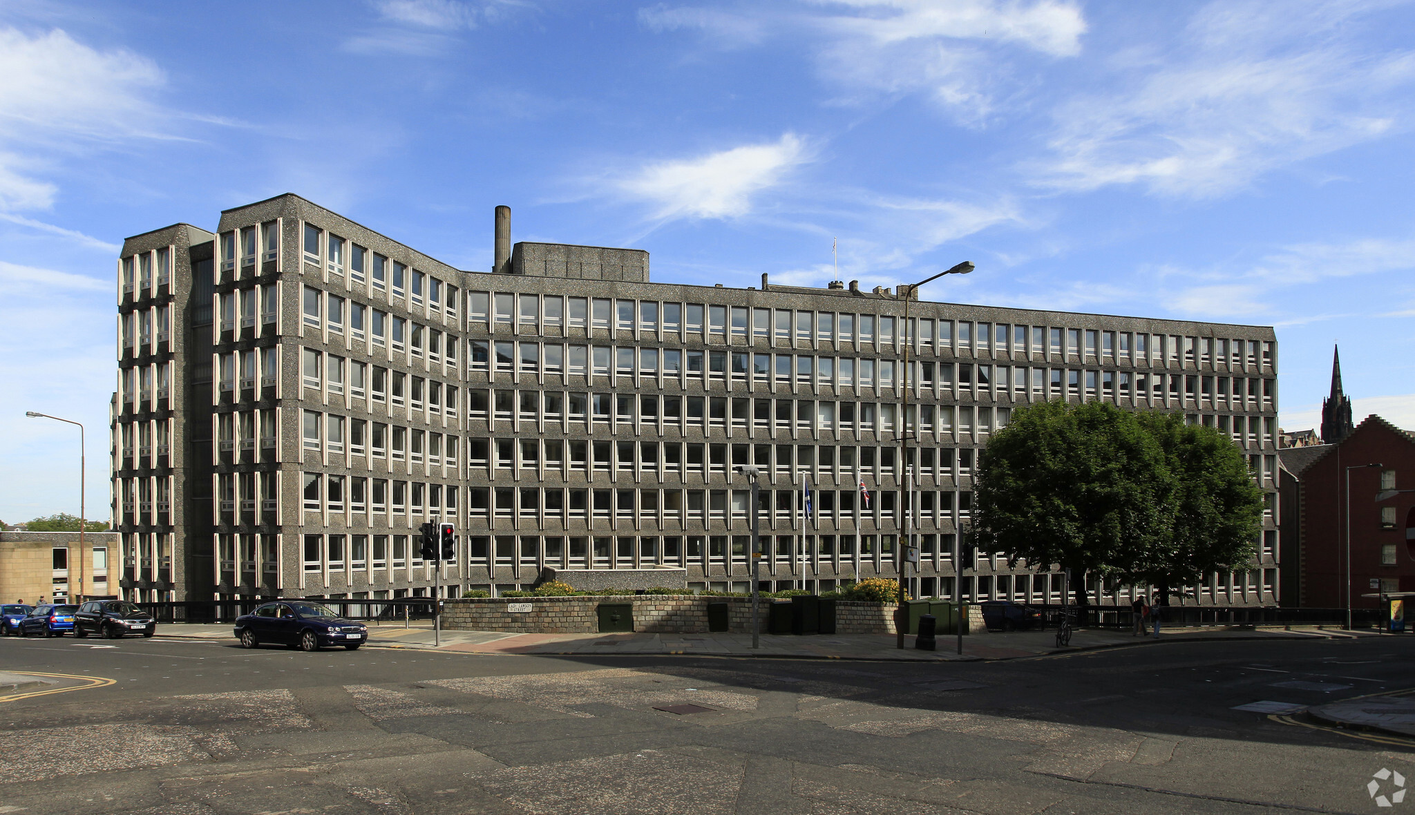
[{"label": "long multi-storey grey concrete office building with rows of windows", "polygon": [[572,584],[613,569],[744,590],[739,464],[764,471],[767,587],[894,576],[908,422],[918,593],[1054,601],[1058,573],[986,553],[959,586],[954,538],[1013,408],[1104,399],[1183,410],[1244,447],[1272,498],[1261,556],[1190,589],[1276,600],[1271,328],[927,301],[906,327],[889,290],[651,283],[642,250],[512,248],[504,208],[495,239],[495,267],[463,272],[296,195],[228,209],[215,232],[129,238],[123,594],[426,596],[429,519],[461,535],[449,594],[528,587],[548,566]]}]

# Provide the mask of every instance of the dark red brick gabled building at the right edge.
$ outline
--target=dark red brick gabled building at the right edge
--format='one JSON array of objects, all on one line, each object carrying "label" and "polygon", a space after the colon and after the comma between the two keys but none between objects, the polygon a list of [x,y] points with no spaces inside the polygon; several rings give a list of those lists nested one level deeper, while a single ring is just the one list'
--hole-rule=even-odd
[{"label": "dark red brick gabled building at the right edge", "polygon": [[1380,591],[1415,591],[1412,433],[1373,415],[1336,444],[1279,458],[1283,606],[1343,608],[1350,593],[1353,608],[1377,608],[1363,597],[1377,591],[1373,580]]}]

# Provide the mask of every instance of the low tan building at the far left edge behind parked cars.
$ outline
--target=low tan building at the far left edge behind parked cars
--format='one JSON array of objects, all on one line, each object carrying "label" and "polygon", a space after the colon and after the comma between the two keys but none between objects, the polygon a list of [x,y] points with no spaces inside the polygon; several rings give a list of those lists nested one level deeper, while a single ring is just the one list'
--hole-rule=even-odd
[{"label": "low tan building at the far left edge behind parked cars", "polygon": [[0,532],[0,601],[117,597],[113,532]]}]

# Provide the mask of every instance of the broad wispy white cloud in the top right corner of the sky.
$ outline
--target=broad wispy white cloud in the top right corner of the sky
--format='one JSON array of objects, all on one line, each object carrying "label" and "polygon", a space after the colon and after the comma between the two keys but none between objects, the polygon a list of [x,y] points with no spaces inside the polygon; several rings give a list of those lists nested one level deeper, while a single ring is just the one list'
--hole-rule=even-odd
[{"label": "broad wispy white cloud in the top right corner of the sky", "polygon": [[1118,57],[1121,89],[1058,105],[1053,156],[1029,171],[1063,191],[1138,184],[1206,198],[1404,127],[1415,57],[1346,40],[1357,10],[1214,3],[1167,52]]}]

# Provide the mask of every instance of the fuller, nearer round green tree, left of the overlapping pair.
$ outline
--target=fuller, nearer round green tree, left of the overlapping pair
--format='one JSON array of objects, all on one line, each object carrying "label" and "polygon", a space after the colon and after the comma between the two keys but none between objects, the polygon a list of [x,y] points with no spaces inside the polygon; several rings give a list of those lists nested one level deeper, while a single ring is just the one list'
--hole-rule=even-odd
[{"label": "fuller, nearer round green tree, left of the overlapping pair", "polygon": [[1173,475],[1155,434],[1105,402],[1043,402],[1015,410],[992,436],[974,478],[972,541],[1012,565],[1085,576],[1135,562],[1163,539]]}]

